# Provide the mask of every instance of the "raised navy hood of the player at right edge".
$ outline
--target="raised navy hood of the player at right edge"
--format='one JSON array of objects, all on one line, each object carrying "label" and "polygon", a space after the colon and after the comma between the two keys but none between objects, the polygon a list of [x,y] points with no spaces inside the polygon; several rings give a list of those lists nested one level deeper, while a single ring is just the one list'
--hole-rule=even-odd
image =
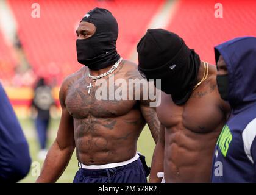
[{"label": "raised navy hood of the player at right edge", "polygon": [[256,102],[256,37],[239,37],[215,47],[229,73],[229,104],[235,108]]}]

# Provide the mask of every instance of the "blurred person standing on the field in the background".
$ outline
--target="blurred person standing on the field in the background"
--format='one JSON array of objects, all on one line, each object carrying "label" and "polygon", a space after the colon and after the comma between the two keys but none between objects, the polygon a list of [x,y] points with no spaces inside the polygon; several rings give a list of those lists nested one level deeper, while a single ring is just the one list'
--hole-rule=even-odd
[{"label": "blurred person standing on the field in the background", "polygon": [[37,130],[40,151],[38,158],[44,160],[47,154],[46,144],[48,141],[48,127],[50,124],[50,109],[55,105],[52,96],[52,88],[46,85],[45,79],[41,77],[34,88],[34,98],[32,99],[32,117],[35,118],[35,128]]}]

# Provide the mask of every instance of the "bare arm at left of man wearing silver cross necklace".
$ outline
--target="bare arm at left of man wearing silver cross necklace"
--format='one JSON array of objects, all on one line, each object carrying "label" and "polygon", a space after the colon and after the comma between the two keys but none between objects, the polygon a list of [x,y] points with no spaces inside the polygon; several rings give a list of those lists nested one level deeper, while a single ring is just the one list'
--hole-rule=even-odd
[{"label": "bare arm at left of man wearing silver cross necklace", "polygon": [[36,182],[56,182],[68,165],[75,148],[73,117],[69,115],[65,105],[67,88],[67,85],[63,82],[59,94],[62,116],[57,138],[49,149],[41,175]]}]

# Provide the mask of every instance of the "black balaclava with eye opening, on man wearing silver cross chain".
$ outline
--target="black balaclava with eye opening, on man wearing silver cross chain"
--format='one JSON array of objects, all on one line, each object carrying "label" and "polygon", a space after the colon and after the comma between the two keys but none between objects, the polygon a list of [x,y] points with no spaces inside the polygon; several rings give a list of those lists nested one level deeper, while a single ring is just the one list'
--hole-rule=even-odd
[{"label": "black balaclava with eye opening, on man wearing silver cross chain", "polygon": [[116,63],[120,58],[116,51],[118,23],[112,13],[96,7],[82,21],[94,24],[96,32],[87,39],[76,40],[78,62],[93,70]]}]

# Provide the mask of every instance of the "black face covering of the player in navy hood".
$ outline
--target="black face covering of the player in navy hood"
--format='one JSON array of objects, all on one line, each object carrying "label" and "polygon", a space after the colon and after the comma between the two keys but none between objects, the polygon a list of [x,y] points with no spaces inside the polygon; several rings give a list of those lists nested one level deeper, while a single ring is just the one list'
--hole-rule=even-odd
[{"label": "black face covering of the player in navy hood", "polygon": [[228,100],[229,97],[229,74],[217,75],[217,85],[219,94],[224,100]]}]

